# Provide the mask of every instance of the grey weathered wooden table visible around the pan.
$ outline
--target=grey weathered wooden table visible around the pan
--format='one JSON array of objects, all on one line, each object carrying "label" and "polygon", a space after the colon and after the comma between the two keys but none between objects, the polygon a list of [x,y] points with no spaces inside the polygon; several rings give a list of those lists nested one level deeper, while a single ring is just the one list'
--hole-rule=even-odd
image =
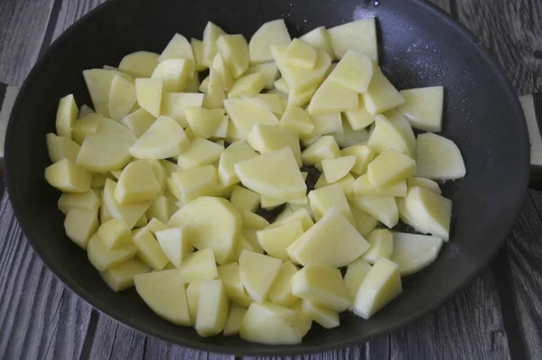
[{"label": "grey weathered wooden table visible around the pan", "polygon": [[[20,86],[47,46],[102,1],[0,1],[0,82]],[[540,0],[433,2],[493,53],[520,95],[542,88]],[[441,309],[388,337],[303,358],[541,358],[541,235],[542,193],[529,189],[506,246]],[[92,309],[33,252],[6,193],[0,239],[0,358],[233,360],[147,337]]]}]

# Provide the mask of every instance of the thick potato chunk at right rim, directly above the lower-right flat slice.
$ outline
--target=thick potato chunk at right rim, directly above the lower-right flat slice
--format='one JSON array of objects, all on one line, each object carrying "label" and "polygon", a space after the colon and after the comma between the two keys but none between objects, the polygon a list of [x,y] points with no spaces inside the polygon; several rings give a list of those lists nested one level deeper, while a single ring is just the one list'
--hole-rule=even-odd
[{"label": "thick potato chunk at right rim, directly above the lower-right flat slice", "polygon": [[452,220],[452,200],[424,188],[410,188],[405,207],[416,228],[448,241]]}]

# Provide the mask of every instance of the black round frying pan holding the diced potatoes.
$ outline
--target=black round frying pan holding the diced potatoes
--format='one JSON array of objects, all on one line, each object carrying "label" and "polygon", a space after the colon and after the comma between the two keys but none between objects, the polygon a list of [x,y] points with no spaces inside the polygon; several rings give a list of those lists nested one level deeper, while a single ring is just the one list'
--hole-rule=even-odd
[{"label": "black round frying pan holding the diced potatoes", "polygon": [[[238,337],[199,337],[192,328],[158,318],[135,291],[113,293],[64,234],[59,192],[43,178],[49,164],[45,134],[54,131],[60,97],[74,93],[91,104],[81,71],[116,66],[132,51],[160,52],[180,32],[201,38],[207,21],[250,37],[259,25],[284,17],[298,36],[316,26],[378,18],[380,64],[399,89],[443,85],[444,131],[466,162],[463,180],[444,183],[453,200],[452,236],[438,259],[404,281],[403,293],[369,320],[343,314],[341,327],[318,326],[294,346],[263,346]],[[5,88],[4,88],[5,90]],[[7,89],[4,117],[14,92]],[[523,102],[541,162],[533,97]],[[149,335],[207,351],[237,355],[292,355],[360,344],[420,318],[481,271],[509,234],[529,178],[528,126],[519,98],[500,66],[472,36],[433,5],[416,0],[115,0],[73,25],[51,45],[23,84],[5,139],[7,189],[35,251],[81,298],[108,316]]]}]

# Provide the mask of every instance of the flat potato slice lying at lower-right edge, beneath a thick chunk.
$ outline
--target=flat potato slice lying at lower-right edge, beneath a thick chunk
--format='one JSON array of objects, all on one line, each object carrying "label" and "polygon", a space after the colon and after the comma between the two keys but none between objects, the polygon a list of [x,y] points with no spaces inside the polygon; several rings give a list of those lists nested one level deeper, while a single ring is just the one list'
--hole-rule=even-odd
[{"label": "flat potato slice lying at lower-right edge, beneath a thick chunk", "polygon": [[393,253],[389,260],[399,265],[401,276],[419,272],[433,263],[443,240],[437,236],[392,233]]}]

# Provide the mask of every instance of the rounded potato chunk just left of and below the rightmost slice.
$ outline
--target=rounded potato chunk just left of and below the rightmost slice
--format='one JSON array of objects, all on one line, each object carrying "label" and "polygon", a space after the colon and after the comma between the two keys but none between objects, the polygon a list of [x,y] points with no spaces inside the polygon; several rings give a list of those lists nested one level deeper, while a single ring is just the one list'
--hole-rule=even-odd
[{"label": "rounded potato chunk just left of and below the rightmost slice", "polygon": [[401,152],[382,152],[367,167],[369,182],[380,189],[416,174],[416,162]]}]

